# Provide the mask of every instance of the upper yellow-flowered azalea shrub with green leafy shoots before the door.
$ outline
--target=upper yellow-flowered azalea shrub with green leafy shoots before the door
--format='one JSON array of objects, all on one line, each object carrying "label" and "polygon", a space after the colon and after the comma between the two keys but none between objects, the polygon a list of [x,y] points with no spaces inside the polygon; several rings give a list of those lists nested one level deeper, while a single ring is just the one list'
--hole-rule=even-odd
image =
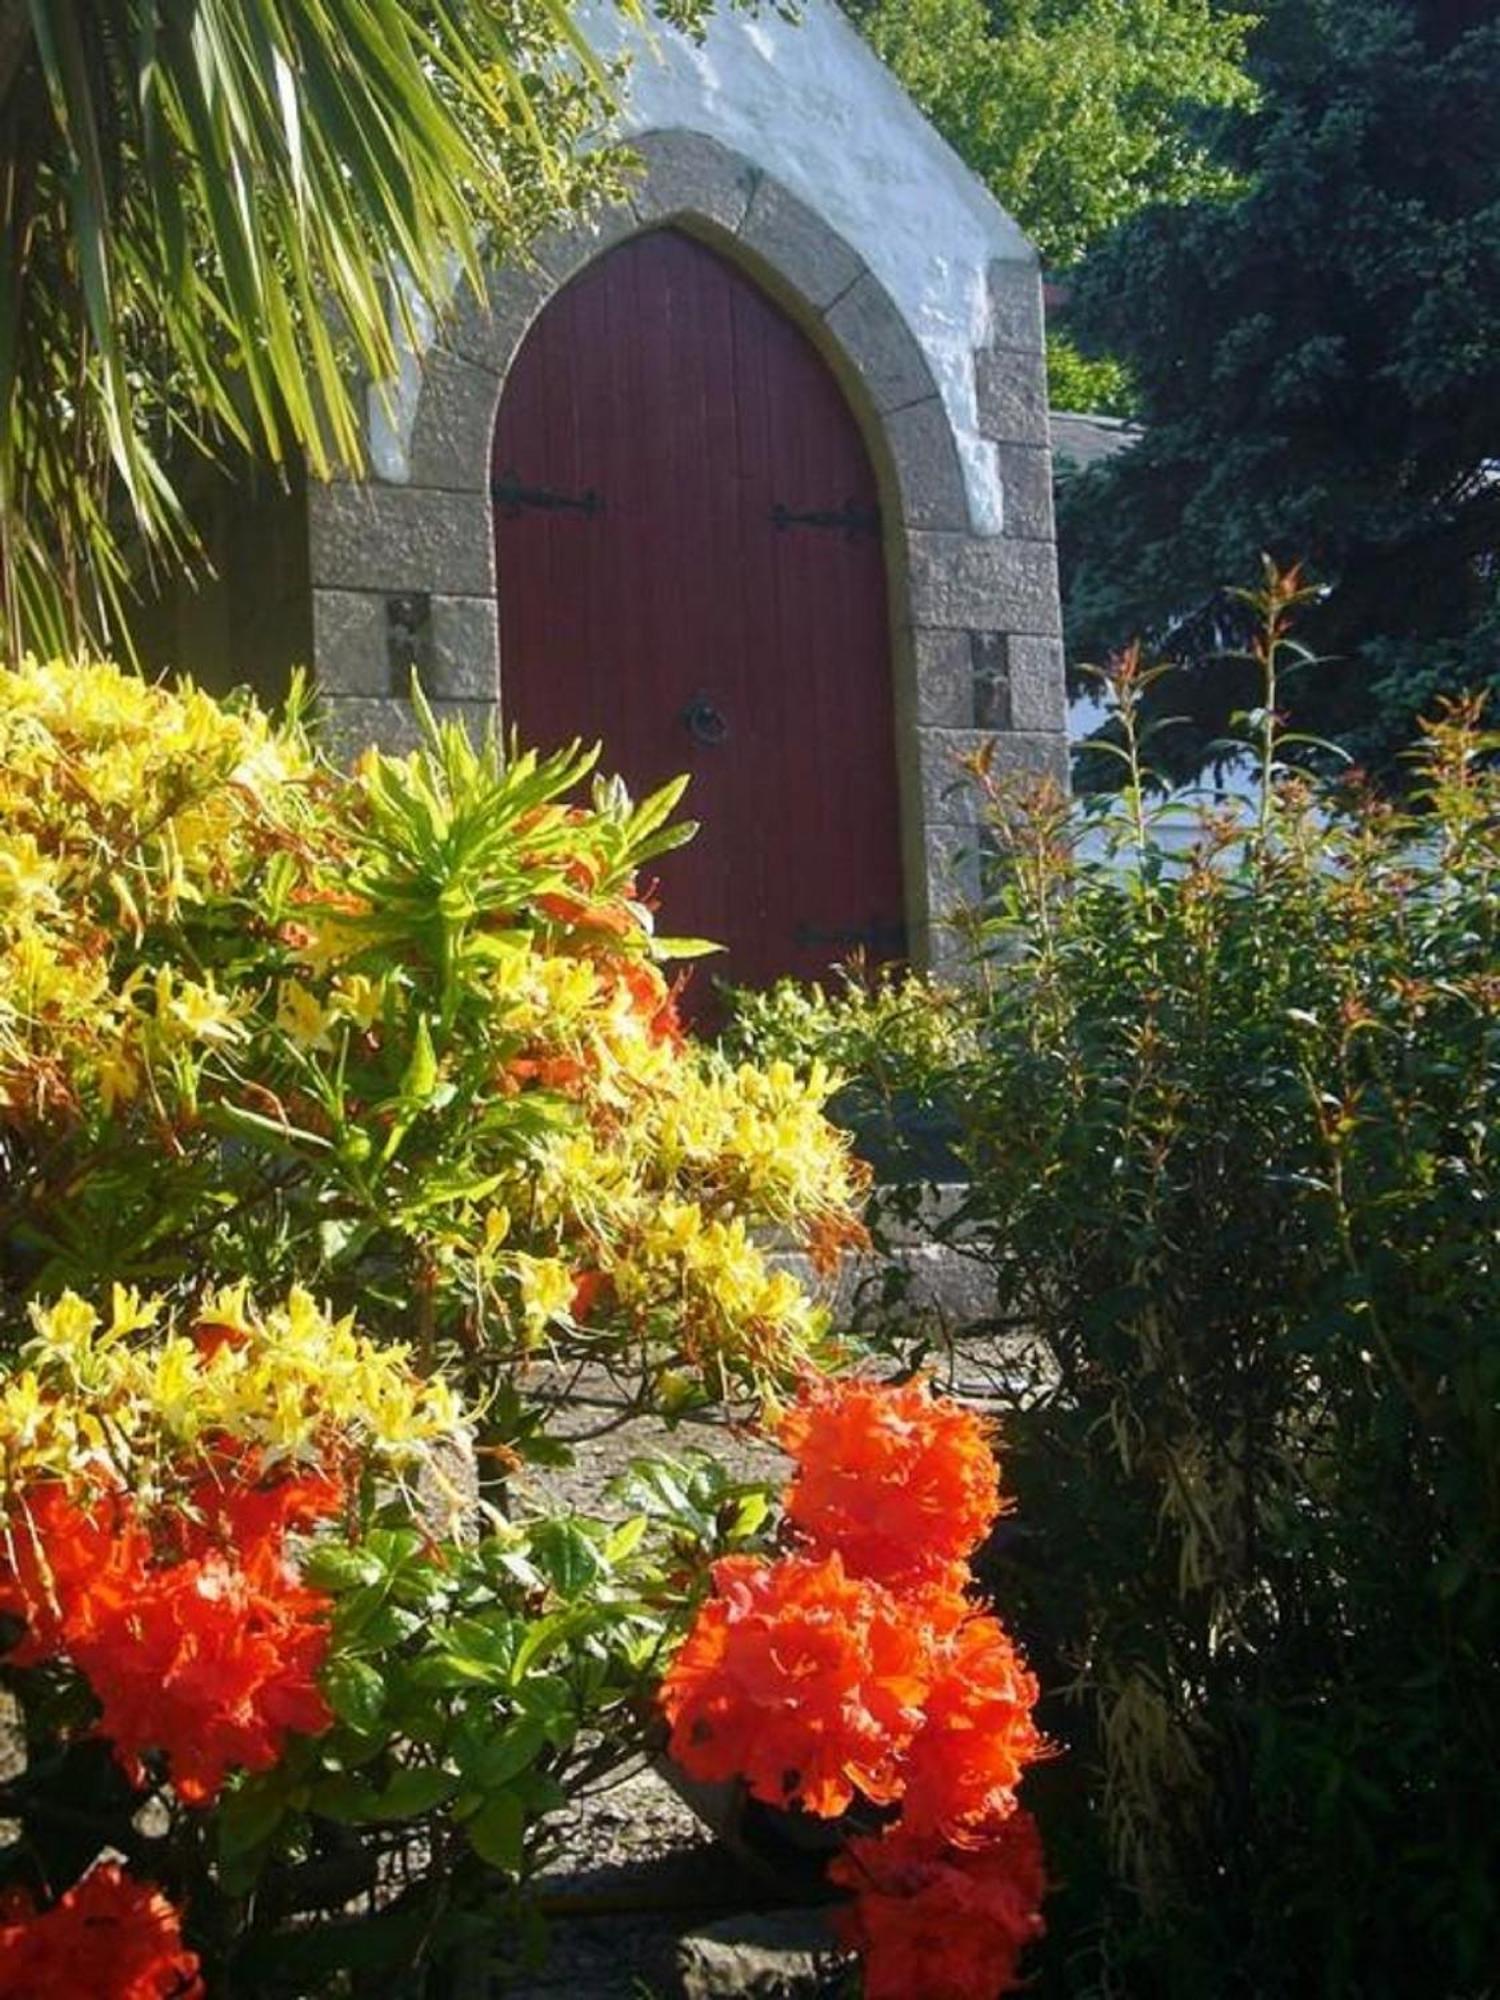
[{"label": "upper yellow-flowered azalea shrub with green leafy shoots before the door", "polygon": [[836,1078],[684,1040],[638,880],[680,786],[568,804],[588,768],[450,728],[340,778],[254,710],[0,674],[12,1310],[184,1244],[202,1278],[212,1238],[214,1282],[316,1276],[478,1394],[542,1348],[630,1354],[644,1396],[806,1360],[754,1232],[858,1240]]}]

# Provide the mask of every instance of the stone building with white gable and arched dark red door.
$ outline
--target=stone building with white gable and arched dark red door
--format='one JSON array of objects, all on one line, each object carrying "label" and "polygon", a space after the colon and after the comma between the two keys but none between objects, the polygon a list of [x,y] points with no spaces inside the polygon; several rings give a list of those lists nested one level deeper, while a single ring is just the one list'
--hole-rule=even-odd
[{"label": "stone building with white gable and arched dark red door", "polygon": [[372,392],[360,480],[226,504],[152,650],[306,658],[348,746],[410,734],[416,664],[440,714],[690,770],[664,928],[740,976],[932,958],[958,754],[1066,772],[1036,254],[832,0],[592,36],[634,42],[628,202]]}]

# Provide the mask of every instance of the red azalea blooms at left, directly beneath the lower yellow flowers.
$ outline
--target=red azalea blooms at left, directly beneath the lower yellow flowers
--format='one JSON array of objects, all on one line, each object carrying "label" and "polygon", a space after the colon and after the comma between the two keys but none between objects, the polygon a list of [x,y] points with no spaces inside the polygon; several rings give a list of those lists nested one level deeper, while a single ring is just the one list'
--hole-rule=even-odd
[{"label": "red azalea blooms at left, directly beneath the lower yellow flowers", "polygon": [[132,1782],[160,1750],[178,1796],[206,1804],[230,1770],[276,1764],[288,1730],[332,1722],[316,1682],[328,1598],[296,1580],[286,1534],[340,1504],[332,1480],[240,1466],[200,1480],[154,1540],[124,1494],[80,1506],[40,1486],[0,1564],[0,1610],[28,1628],[12,1658],[66,1654]]}]

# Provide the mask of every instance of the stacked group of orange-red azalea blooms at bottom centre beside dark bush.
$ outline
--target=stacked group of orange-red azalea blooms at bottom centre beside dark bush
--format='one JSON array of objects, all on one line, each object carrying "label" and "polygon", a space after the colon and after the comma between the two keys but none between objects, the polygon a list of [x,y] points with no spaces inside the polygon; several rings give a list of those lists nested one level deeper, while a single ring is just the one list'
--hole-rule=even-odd
[{"label": "stacked group of orange-red azalea blooms at bottom centre beside dark bush", "polygon": [[810,1548],[714,1566],[662,1682],[672,1756],[818,1818],[898,1808],[830,1868],[866,1996],[994,2000],[1042,1932],[1016,1786],[1044,1742],[1036,1680],[964,1594],[1000,1512],[984,1426],[922,1384],[848,1380],[808,1382],[778,1436]]}]

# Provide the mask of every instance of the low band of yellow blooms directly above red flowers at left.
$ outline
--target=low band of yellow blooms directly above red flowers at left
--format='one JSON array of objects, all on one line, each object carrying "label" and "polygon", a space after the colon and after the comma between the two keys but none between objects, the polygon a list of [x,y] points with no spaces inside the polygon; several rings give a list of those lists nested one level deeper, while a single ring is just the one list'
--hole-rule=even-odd
[{"label": "low band of yellow blooms directly above red flowers at left", "polygon": [[208,1296],[186,1330],[114,1286],[110,1314],[64,1292],[30,1308],[32,1338],[0,1378],[0,1482],[150,1482],[150,1466],[230,1440],[264,1464],[344,1452],[398,1468],[454,1438],[460,1406],[404,1348],[378,1346],[302,1288],[256,1312],[244,1286]]}]

